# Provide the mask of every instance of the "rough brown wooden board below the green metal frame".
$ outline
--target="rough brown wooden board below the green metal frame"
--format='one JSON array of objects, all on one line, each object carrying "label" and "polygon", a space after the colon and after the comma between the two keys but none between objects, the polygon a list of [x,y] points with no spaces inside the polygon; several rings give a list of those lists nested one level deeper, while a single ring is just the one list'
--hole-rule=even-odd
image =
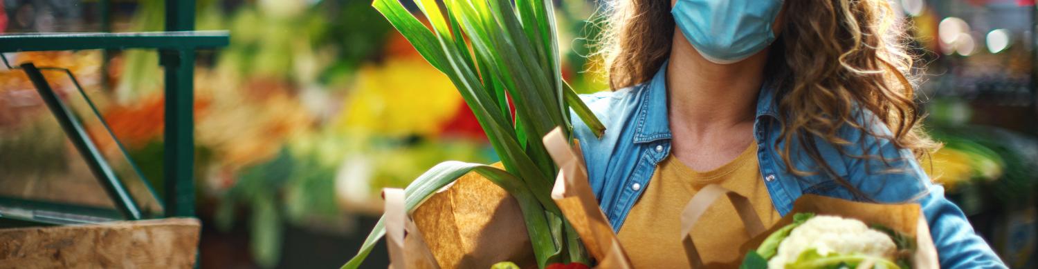
[{"label": "rough brown wooden board below the green metal frame", "polygon": [[195,218],[0,229],[0,268],[192,268]]}]

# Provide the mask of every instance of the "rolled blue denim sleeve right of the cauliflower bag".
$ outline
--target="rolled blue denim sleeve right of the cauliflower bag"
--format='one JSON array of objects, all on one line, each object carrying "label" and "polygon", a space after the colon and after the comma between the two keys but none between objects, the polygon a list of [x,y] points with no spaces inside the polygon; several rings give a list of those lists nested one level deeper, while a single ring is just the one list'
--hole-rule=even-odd
[{"label": "rolled blue denim sleeve right of the cauliflower bag", "polygon": [[962,210],[945,198],[945,188],[930,185],[930,193],[919,201],[930,223],[940,268],[1006,268],[984,239],[977,236]]}]

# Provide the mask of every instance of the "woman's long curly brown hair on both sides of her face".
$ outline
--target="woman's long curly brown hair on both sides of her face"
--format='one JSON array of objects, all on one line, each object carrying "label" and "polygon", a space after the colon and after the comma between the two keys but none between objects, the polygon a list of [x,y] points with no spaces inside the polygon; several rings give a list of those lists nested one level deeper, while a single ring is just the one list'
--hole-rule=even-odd
[{"label": "woman's long curly brown hair on both sides of her face", "polygon": [[[616,90],[649,81],[671,55],[675,30],[671,1],[617,0],[604,4],[608,19],[602,25],[598,53],[605,61],[609,86]],[[862,196],[825,165],[814,140],[838,146],[874,146],[865,145],[865,136],[861,141],[840,136],[842,128],[856,128],[910,149],[917,158],[939,147],[923,131],[904,22],[886,0],[785,1],[784,8],[783,32],[770,48],[766,71],[778,86],[776,102],[785,146],[776,150],[791,172],[798,176],[817,173],[792,166],[791,145],[803,145],[804,152],[821,165],[821,172]],[[891,132],[877,131],[862,122],[870,118],[864,117],[868,112]],[[881,156],[853,157],[889,162]]]}]

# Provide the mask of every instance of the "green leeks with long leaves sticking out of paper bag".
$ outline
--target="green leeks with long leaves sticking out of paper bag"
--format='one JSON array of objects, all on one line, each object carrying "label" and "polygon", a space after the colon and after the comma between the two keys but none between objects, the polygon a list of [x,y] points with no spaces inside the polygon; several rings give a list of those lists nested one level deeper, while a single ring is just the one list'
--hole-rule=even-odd
[{"label": "green leeks with long leaves sticking out of paper bag", "polygon": [[[437,165],[407,186],[408,212],[437,189],[475,172],[519,202],[540,267],[588,263],[583,245],[550,198],[558,168],[540,138],[558,126],[570,137],[570,110],[596,136],[602,136],[605,127],[563,81],[553,2],[442,1],[441,9],[435,0],[415,0],[432,29],[398,0],[375,0],[372,5],[430,64],[450,79],[504,170],[460,161]],[[359,267],[385,235],[384,229],[380,220],[343,268]]]}]

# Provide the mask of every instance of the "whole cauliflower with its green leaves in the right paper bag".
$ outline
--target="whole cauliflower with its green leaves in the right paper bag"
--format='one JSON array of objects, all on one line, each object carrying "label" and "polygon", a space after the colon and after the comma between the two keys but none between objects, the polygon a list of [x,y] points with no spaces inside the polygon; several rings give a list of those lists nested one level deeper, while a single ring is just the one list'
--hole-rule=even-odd
[{"label": "whole cauliflower with its green leaves in the right paper bag", "polygon": [[[746,255],[743,268],[910,268],[912,239],[852,218],[797,213]],[[766,262],[764,262],[766,261]]]}]

